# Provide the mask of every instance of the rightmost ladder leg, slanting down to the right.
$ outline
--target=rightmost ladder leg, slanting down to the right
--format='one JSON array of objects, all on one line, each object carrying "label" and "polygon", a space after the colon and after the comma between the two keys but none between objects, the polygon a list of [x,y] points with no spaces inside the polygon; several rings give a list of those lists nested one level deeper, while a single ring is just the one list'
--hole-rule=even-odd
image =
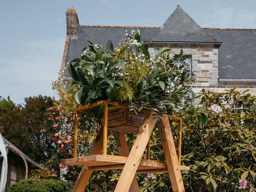
[{"label": "rightmost ladder leg, slanting down to the right", "polygon": [[178,156],[176,153],[174,140],[172,137],[172,130],[171,130],[170,122],[168,119],[168,115],[163,115],[162,119],[160,119],[157,122],[157,125],[158,125],[158,129],[162,130],[166,137],[165,138],[166,142],[162,142],[162,146],[164,150],[164,156],[166,159],[168,172],[170,175],[172,190],[174,192],[184,192],[185,189],[182,181],[180,166],[178,163]]}]

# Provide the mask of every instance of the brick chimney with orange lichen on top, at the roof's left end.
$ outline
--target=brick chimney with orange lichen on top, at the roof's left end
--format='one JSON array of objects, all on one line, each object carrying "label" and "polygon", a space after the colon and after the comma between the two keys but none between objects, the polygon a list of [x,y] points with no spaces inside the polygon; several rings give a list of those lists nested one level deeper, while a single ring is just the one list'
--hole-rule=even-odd
[{"label": "brick chimney with orange lichen on top, at the roof's left end", "polygon": [[76,10],[72,7],[66,12],[67,35],[77,38],[79,21]]}]

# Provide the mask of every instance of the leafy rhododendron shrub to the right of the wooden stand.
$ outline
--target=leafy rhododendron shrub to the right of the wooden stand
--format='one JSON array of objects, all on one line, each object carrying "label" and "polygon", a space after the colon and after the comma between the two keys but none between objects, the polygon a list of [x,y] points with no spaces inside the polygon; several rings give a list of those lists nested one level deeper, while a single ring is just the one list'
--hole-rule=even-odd
[{"label": "leafy rhododendron shrub to the right of the wooden stand", "polygon": [[201,108],[193,111],[204,111],[201,122],[198,114],[179,112],[182,162],[191,168],[183,175],[187,188],[238,191],[239,180],[246,179],[246,191],[256,191],[256,97],[232,89],[222,94],[202,90],[200,98]]}]

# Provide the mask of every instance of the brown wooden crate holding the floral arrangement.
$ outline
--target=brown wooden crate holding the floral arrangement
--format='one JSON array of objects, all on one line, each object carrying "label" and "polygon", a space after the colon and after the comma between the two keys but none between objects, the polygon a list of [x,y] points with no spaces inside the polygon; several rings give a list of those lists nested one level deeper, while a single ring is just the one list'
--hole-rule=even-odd
[{"label": "brown wooden crate holding the floral arrangement", "polygon": [[[144,112],[130,111],[127,108],[114,106],[108,108],[108,130],[135,133],[139,132],[145,118]],[[104,124],[104,118],[101,120]]]}]

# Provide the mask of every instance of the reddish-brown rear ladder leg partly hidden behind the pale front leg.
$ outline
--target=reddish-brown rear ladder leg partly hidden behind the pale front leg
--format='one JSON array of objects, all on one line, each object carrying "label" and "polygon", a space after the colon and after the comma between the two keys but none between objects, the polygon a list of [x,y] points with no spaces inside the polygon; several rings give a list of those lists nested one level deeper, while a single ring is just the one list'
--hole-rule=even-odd
[{"label": "reddish-brown rear ladder leg partly hidden behind the pale front leg", "polygon": [[[114,132],[114,137],[116,140],[117,150],[120,156],[129,156],[129,148],[126,142],[126,137],[122,132]],[[140,187],[136,178],[136,175],[132,179],[132,184],[130,186],[130,192],[140,192]]]}]

